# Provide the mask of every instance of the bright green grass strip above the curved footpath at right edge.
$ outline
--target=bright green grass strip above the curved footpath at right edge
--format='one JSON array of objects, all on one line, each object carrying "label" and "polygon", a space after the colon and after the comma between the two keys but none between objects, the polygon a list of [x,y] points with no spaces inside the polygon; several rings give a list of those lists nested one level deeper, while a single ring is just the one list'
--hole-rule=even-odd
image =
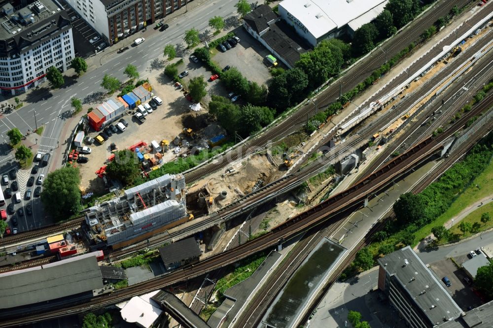
[{"label": "bright green grass strip above the curved footpath at right edge", "polygon": [[[490,195],[493,195],[493,161],[490,161],[490,164],[486,166],[485,170],[479,176],[477,176],[476,179],[474,179],[471,185],[462,194],[460,194],[456,200],[454,200],[452,205],[450,205],[449,209],[445,213],[443,213],[431,224],[426,225],[420,230],[416,231],[415,240],[422,240],[424,237],[431,233],[431,228],[445,224],[445,222],[457,216],[467,206]],[[483,211],[487,210],[485,209]],[[481,216],[481,214],[479,216]],[[458,232],[462,234],[460,230],[458,230]]]}]

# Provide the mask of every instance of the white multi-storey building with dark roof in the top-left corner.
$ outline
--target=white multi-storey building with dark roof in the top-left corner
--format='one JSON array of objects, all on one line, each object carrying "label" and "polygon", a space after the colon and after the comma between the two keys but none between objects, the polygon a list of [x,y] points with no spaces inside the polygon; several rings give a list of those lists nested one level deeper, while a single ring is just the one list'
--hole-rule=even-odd
[{"label": "white multi-storey building with dark roof in the top-left corner", "polygon": [[67,13],[52,0],[0,1],[0,90],[16,95],[67,70],[75,55]]}]

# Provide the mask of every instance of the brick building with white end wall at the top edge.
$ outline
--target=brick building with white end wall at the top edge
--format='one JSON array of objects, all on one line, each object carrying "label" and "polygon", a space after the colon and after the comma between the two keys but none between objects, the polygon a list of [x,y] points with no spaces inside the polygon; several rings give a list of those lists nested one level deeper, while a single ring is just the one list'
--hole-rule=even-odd
[{"label": "brick building with white end wall at the top edge", "polygon": [[166,17],[191,0],[67,0],[110,45]]}]

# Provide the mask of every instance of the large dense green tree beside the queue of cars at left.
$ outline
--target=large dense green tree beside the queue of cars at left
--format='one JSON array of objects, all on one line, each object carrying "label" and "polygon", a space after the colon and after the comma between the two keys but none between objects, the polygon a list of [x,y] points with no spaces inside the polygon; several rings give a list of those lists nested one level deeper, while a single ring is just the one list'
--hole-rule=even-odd
[{"label": "large dense green tree beside the queue of cars at left", "polygon": [[66,166],[47,174],[41,201],[56,221],[67,220],[81,210],[79,184],[77,167]]}]

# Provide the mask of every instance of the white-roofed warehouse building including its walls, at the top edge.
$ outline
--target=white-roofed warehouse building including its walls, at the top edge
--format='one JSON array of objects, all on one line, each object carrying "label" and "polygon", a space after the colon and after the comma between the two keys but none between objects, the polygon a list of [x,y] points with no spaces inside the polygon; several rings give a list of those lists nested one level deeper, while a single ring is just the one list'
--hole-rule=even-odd
[{"label": "white-roofed warehouse building including its walls, at the top edge", "polygon": [[279,14],[315,47],[323,39],[347,33],[348,25],[355,31],[369,23],[386,3],[387,0],[283,0]]}]

